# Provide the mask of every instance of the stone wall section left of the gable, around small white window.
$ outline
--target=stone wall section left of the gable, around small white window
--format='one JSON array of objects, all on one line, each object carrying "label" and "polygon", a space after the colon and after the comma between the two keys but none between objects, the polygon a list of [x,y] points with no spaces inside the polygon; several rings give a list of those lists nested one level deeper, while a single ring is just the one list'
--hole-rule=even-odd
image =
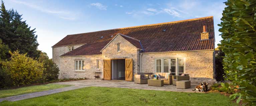
[{"label": "stone wall section left of the gable, around small white window", "polygon": [[[78,56],[78,57],[60,57],[60,76],[59,78],[87,78],[94,79],[93,72],[102,72],[102,56]],[[96,60],[99,59],[99,70],[96,68]],[[84,71],[75,71],[75,60],[84,60]],[[102,73],[101,76],[102,78]]]}]

